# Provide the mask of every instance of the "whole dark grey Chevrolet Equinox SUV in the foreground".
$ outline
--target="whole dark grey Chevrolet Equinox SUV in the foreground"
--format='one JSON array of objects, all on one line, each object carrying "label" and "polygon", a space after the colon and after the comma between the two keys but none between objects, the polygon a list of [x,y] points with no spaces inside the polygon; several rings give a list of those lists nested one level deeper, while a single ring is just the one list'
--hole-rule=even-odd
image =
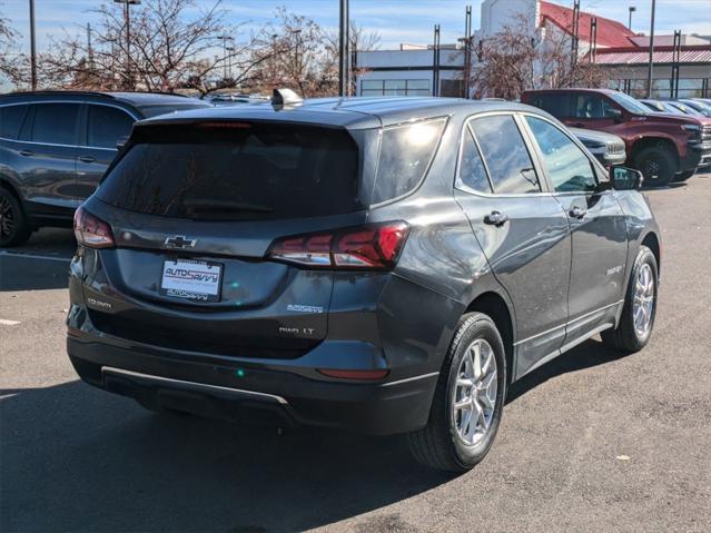
[{"label": "whole dark grey Chevrolet Equinox SUV in the foreground", "polygon": [[512,382],[599,333],[646,344],[661,248],[639,172],[610,180],[529,106],[294,100],[134,128],[75,219],[85,382],[156,411],[407,433],[462,471]]}]

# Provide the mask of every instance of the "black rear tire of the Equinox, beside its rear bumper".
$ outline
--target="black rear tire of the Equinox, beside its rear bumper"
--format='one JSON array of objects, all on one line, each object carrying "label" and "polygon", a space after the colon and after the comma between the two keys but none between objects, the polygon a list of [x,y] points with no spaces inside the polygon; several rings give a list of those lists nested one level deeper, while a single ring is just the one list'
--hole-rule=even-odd
[{"label": "black rear tire of the Equinox, beside its rear bumper", "polygon": [[[491,354],[482,383],[495,383],[496,391],[494,393],[490,386],[488,394],[484,394],[484,388],[477,388],[478,394],[475,403],[481,405],[484,415],[482,418],[474,421],[476,411],[474,403],[472,403],[470,405],[471,414],[468,415],[470,424],[465,424],[466,411],[455,411],[454,403],[456,398],[460,398],[457,403],[464,403],[463,401],[467,396],[464,393],[466,393],[467,388],[470,393],[472,391],[471,387],[457,386],[457,382],[461,375],[464,381],[467,366],[465,358],[467,358],[470,348],[474,346],[478,346],[481,354],[480,362],[482,364],[480,364],[480,371],[484,366],[483,362],[488,359],[487,354]],[[470,361],[473,363],[475,357]],[[493,377],[492,361],[495,363],[494,372],[496,373]],[[463,365],[465,366],[463,367]],[[468,365],[468,368],[473,369],[473,365]],[[464,373],[461,374],[461,371],[464,371]],[[475,379],[472,379],[472,382],[475,382]],[[426,466],[447,472],[462,473],[473,468],[488,453],[496,437],[496,431],[503,414],[504,398],[506,397],[506,383],[504,343],[494,322],[482,313],[464,315],[445,356],[427,425],[423,430],[411,432],[407,435],[409,450],[414,458]],[[488,401],[482,401],[483,396],[488,396]],[[488,402],[488,406],[486,402]],[[492,403],[493,409],[491,408]],[[476,431],[472,432],[471,442],[465,442],[465,437],[460,434],[460,428],[467,433],[467,428],[471,431],[480,427],[480,422],[485,424],[487,411],[487,427],[481,435]],[[473,421],[475,427],[471,426]]]}]

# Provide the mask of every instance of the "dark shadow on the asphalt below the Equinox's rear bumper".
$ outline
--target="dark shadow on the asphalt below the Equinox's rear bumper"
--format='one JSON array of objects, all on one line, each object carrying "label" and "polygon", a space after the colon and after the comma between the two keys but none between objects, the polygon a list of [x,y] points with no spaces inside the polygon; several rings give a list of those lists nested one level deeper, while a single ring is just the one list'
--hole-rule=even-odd
[{"label": "dark shadow on the asphalt below the Equinox's rear bumper", "polygon": [[303,531],[452,478],[397,437],[155,415],[80,382],[0,397],[3,532]]}]

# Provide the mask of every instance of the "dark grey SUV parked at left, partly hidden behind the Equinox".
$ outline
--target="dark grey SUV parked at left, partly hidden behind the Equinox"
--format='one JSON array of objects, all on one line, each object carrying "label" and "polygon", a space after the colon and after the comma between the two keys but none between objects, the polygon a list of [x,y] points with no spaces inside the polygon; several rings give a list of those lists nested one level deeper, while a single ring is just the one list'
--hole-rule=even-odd
[{"label": "dark grey SUV parked at left, partly hidden behind the Equinox", "polygon": [[208,107],[176,95],[37,91],[0,96],[0,246],[43,226],[71,226],[131,126]]}]

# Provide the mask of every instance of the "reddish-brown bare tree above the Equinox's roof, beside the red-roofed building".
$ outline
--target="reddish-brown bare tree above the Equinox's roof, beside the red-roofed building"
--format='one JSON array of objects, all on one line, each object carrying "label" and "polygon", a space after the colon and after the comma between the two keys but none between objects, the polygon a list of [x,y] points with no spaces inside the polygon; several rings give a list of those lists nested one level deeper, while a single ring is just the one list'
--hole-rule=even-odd
[{"label": "reddish-brown bare tree above the Equinox's roof, beside the red-roofed building", "polygon": [[475,52],[471,85],[477,97],[517,99],[529,89],[600,87],[608,80],[590,55],[573,56],[567,33],[531,34],[525,18],[483,40]]}]

